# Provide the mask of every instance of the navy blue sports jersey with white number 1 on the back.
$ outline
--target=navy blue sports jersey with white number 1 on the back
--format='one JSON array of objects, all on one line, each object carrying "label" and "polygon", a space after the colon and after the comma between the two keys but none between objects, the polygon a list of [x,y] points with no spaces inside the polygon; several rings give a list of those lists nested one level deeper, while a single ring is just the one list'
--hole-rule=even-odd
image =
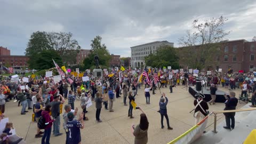
[{"label": "navy blue sports jersey with white number 1 on the back", "polygon": [[68,128],[68,143],[77,144],[81,142],[81,133],[80,128],[82,124],[79,121],[73,120],[67,122]]}]

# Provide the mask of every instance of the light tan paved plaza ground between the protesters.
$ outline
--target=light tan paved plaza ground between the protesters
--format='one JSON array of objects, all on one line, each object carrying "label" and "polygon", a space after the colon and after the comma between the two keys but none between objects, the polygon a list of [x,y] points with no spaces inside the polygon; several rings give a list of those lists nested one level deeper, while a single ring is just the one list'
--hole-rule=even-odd
[{"label": "light tan paved plaza ground between the protesters", "polygon": [[[143,85],[144,87],[144,85]],[[146,99],[144,97],[143,89],[138,91],[135,102],[138,106],[141,106],[146,112],[149,121],[148,130],[148,143],[167,143],[172,139],[178,137],[183,132],[186,132],[194,125],[193,113],[189,113],[194,108],[194,98],[189,94],[186,89],[182,89],[183,86],[174,87],[173,93],[169,93],[168,88],[161,89],[162,92],[166,93],[169,103],[167,105],[167,111],[170,119],[170,125],[173,130],[167,130],[166,121],[164,119],[165,129],[161,129],[160,115],[157,113],[158,102],[160,98],[159,90],[156,90],[156,94],[150,98],[150,105],[146,105]],[[222,89],[228,92],[227,89]],[[150,91],[152,93],[152,91]],[[240,93],[240,90],[236,90],[236,93]],[[134,143],[134,136],[131,133],[131,124],[139,124],[140,122],[140,110],[134,110],[133,115],[135,118],[130,119],[127,117],[128,106],[123,105],[122,98],[116,99],[114,102],[114,113],[102,108],[100,117],[102,123],[95,121],[95,105],[91,106],[89,113],[86,114],[89,117],[89,121],[85,121],[85,128],[81,130],[82,143]],[[67,101],[65,102],[65,104]],[[27,143],[41,143],[41,139],[35,138],[36,123],[31,122],[31,115],[33,110],[29,110],[27,115],[20,115],[21,107],[17,107],[17,102],[6,103],[6,117],[9,117],[10,122],[13,122],[17,134],[23,138],[26,138]],[[238,106],[241,108],[244,105],[242,103]],[[80,101],[75,102],[75,107],[78,107],[78,113],[82,112],[80,108]],[[223,103],[217,103],[216,105],[209,106],[210,111],[222,110],[225,106]],[[64,110],[64,109],[63,109]],[[62,114],[61,114],[62,116]],[[223,119],[223,116],[218,117]],[[63,135],[59,137],[52,136],[50,139],[51,143],[65,143],[66,134],[62,128],[63,120],[61,118],[61,129],[60,132]],[[209,118],[207,130],[212,129],[213,117]]]}]

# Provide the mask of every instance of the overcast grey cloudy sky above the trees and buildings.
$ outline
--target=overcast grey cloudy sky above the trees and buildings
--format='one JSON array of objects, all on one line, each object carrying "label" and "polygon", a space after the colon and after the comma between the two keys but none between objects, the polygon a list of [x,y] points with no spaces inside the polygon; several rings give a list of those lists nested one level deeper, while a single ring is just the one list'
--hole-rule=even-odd
[{"label": "overcast grey cloudy sky above the trees and buildings", "polygon": [[229,20],[230,40],[251,41],[256,35],[256,1],[152,1],[152,0],[0,0],[0,46],[12,55],[24,55],[34,31],[73,33],[82,49],[100,35],[110,53],[130,57],[130,47],[169,41],[174,46],[194,19],[223,17]]}]

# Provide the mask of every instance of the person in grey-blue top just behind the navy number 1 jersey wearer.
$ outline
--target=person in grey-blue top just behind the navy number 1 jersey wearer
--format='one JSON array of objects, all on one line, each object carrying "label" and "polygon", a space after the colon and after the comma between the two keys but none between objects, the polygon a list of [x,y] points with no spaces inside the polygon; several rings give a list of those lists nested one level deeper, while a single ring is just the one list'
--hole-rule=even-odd
[{"label": "person in grey-blue top just behind the navy number 1 jersey wearer", "polygon": [[[76,118],[76,115],[77,115],[77,111],[78,111],[78,108],[76,108],[75,110],[71,109],[71,106],[70,105],[65,105],[64,106],[64,109],[65,109],[65,112],[63,113],[63,128],[66,132],[66,144],[68,144],[68,137],[69,137],[69,132],[68,132],[68,127],[67,127],[67,122],[68,122],[68,113],[71,112],[74,114],[74,118]],[[80,119],[79,119],[80,120]],[[78,121],[79,121],[78,120]]]}]

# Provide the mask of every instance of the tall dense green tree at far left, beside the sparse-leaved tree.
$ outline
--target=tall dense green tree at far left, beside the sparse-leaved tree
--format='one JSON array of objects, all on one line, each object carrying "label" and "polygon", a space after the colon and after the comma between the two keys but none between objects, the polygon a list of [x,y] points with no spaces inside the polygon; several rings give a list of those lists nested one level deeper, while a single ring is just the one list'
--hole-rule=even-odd
[{"label": "tall dense green tree at far left, beside the sparse-leaved tree", "polygon": [[25,54],[29,57],[29,68],[35,69],[37,63],[36,59],[40,57],[43,50],[51,50],[47,33],[45,31],[34,32],[29,39]]}]

